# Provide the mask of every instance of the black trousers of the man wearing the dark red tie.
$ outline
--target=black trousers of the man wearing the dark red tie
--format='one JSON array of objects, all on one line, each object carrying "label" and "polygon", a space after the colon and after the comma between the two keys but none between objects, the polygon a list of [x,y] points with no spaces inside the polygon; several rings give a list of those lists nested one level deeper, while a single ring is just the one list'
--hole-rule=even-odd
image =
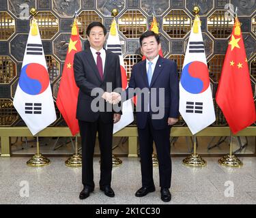
[{"label": "black trousers of the man wearing the dark red tie", "polygon": [[82,182],[94,188],[94,146],[98,131],[100,144],[100,187],[111,185],[113,122],[103,123],[79,121],[82,141]]}]

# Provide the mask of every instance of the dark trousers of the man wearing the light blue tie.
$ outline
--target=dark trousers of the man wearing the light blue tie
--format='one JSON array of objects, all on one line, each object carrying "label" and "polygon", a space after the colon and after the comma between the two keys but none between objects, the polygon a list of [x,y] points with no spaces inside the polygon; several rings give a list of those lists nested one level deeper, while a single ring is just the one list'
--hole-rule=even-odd
[{"label": "dark trousers of the man wearing the light blue tie", "polygon": [[170,132],[171,127],[160,130],[154,129],[150,113],[147,116],[147,124],[145,128],[138,128],[141,155],[141,177],[142,185],[145,187],[154,186],[152,163],[153,140],[156,144],[156,152],[158,155],[160,187],[171,187]]}]

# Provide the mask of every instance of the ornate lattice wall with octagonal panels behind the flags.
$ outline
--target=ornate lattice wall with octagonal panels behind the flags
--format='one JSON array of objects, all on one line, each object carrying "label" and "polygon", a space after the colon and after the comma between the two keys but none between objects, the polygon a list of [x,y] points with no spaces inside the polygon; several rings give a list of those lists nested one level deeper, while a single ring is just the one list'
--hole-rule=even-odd
[{"label": "ornate lattice wall with octagonal panels behind the flags", "polygon": [[[232,5],[227,5],[231,3]],[[239,0],[0,0],[0,126],[23,126],[12,100],[18,84],[23,55],[27,43],[31,15],[35,7],[48,73],[56,101],[63,63],[70,40],[71,25],[75,12],[79,15],[79,30],[83,48],[89,46],[86,27],[92,21],[103,22],[110,29],[111,11],[119,11],[119,36],[125,68],[130,78],[132,66],[141,61],[139,36],[150,28],[155,14],[160,31],[160,42],[165,57],[182,65],[193,25],[193,7],[198,5],[201,16],[203,42],[208,61],[210,82],[216,109],[214,126],[227,125],[215,102],[218,80],[225,59],[225,52],[233,26],[231,10],[238,7],[242,33],[251,72],[253,95],[256,97],[256,1]],[[57,121],[51,126],[66,125],[59,110]],[[186,126],[180,119],[178,126]]]}]

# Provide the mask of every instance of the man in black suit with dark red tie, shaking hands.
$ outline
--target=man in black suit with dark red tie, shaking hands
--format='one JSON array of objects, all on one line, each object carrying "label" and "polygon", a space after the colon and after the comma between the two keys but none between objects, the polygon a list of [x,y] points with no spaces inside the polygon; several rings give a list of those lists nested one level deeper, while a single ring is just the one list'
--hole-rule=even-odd
[{"label": "man in black suit with dark red tie, shaking hands", "polygon": [[[79,87],[76,119],[79,120],[82,141],[83,190],[79,198],[85,199],[94,191],[93,157],[97,131],[100,144],[100,189],[106,196],[114,197],[111,188],[113,123],[119,121],[122,112],[115,113],[109,102],[111,91],[122,87],[119,57],[104,50],[106,28],[102,23],[91,22],[86,34],[90,48],[74,56],[74,78]],[[111,84],[111,90],[106,92],[108,84]],[[94,96],[96,89],[101,89],[102,93]],[[93,104],[96,99],[99,110],[95,110],[97,108]],[[109,106],[111,109],[106,110]]]}]

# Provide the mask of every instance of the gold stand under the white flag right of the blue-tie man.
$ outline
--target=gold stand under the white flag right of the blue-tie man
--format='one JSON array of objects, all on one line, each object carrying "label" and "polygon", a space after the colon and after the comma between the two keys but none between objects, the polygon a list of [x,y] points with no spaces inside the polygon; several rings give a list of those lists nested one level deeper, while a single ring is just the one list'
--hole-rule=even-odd
[{"label": "gold stand under the white flag right of the blue-tie man", "polygon": [[197,154],[197,138],[194,135],[194,152],[190,156],[186,157],[183,161],[184,165],[192,167],[206,166],[206,161]]}]

